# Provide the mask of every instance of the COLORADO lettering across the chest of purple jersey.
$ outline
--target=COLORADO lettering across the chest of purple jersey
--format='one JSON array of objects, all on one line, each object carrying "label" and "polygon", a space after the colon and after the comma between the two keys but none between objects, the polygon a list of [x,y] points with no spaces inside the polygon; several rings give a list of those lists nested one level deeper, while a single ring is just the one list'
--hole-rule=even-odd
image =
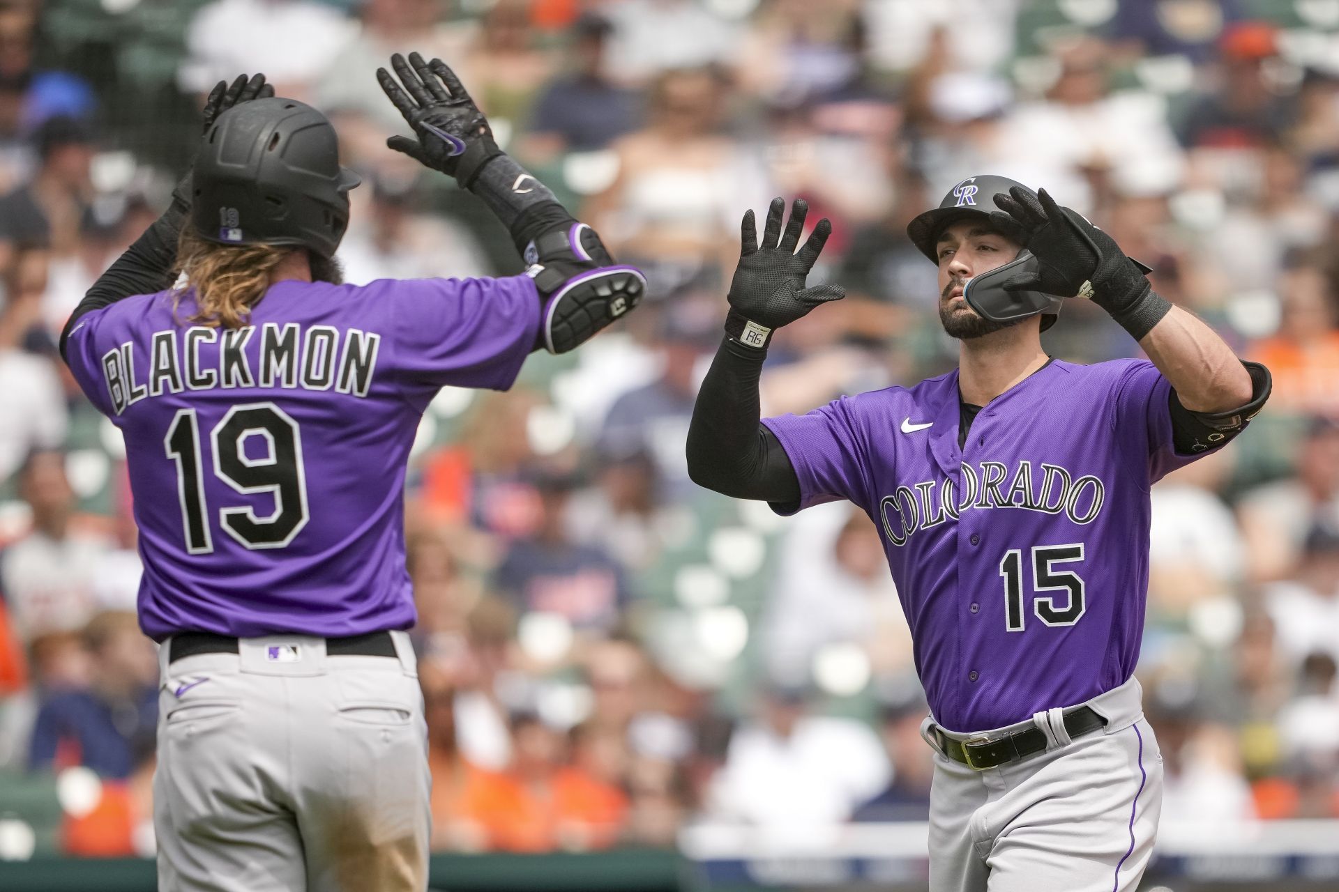
[{"label": "COLORADO lettering across the chest of purple jersey", "polygon": [[[955,497],[953,480],[924,480],[913,487],[897,487],[897,492],[878,501],[884,519],[884,532],[894,546],[901,546],[917,530],[936,527],[944,518],[957,520],[959,514],[971,508],[1023,508],[1042,514],[1065,514],[1079,524],[1093,523],[1106,487],[1099,477],[1075,477],[1058,464],[1040,463],[1040,479],[1034,484],[1032,463],[1019,461],[1010,473],[1000,461],[981,461],[980,472],[967,461],[963,468],[963,493]],[[1004,481],[1010,483],[1006,484]],[[896,515],[896,519],[890,518]]]}]

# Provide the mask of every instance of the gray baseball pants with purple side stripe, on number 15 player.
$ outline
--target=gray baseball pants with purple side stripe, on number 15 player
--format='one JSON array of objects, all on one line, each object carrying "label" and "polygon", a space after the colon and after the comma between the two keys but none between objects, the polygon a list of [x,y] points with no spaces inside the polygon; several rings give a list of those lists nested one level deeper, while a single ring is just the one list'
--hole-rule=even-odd
[{"label": "gray baseball pants with purple side stripe, on number 15 player", "polygon": [[[931,892],[1134,892],[1162,809],[1162,754],[1131,678],[1087,702],[1106,728],[1071,741],[1062,709],[984,732],[1039,728],[1047,749],[973,770],[936,749]],[[943,729],[955,740],[976,737]],[[980,732],[979,732],[980,733]]]}]

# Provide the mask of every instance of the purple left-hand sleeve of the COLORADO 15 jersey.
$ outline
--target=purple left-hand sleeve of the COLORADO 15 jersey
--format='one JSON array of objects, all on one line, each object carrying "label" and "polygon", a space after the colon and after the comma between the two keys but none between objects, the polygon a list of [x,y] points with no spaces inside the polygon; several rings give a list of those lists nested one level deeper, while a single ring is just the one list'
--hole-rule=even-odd
[{"label": "purple left-hand sleeve of the COLORADO 15 jersey", "polygon": [[799,501],[770,503],[773,511],[791,515],[840,499],[869,511],[869,449],[854,399],[844,396],[805,415],[781,415],[762,423],[777,435],[799,480]]}]

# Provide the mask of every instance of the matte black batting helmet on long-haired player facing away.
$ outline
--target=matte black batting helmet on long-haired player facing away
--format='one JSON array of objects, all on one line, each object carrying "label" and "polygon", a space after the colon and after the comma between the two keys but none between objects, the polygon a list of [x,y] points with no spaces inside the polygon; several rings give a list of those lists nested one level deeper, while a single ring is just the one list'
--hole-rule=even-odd
[{"label": "matte black batting helmet on long-haired player facing away", "polygon": [[339,164],[325,115],[273,96],[229,108],[204,135],[191,226],[220,245],[293,245],[332,257],[359,175]]}]

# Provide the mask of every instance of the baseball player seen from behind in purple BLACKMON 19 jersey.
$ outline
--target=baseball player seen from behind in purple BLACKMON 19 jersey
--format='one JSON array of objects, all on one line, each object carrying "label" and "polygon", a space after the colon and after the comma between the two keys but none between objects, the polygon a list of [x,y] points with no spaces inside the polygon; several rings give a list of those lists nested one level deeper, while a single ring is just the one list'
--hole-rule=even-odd
[{"label": "baseball player seen from behind in purple BLACKMON 19 jersey", "polygon": [[[216,88],[189,183],[88,292],[62,352],[126,440],[159,641],[159,888],[416,891],[423,699],[404,469],[443,385],[506,389],[644,280],[505,155],[441,60],[378,71],[392,148],[483,199],[524,275],[341,285],[359,178],[315,108]],[[170,286],[174,266],[185,282]]]}]

